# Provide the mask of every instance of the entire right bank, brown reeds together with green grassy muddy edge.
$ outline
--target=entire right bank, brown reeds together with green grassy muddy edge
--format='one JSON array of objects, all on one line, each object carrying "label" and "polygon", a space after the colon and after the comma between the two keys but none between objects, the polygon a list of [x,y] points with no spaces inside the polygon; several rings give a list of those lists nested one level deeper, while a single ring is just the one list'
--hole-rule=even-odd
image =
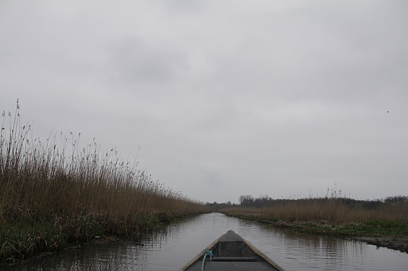
[{"label": "entire right bank, brown reeds together with green grassy muddy edge", "polygon": [[363,240],[408,252],[408,204],[362,207],[342,198],[289,200],[269,207],[232,207],[220,212],[297,232]]}]

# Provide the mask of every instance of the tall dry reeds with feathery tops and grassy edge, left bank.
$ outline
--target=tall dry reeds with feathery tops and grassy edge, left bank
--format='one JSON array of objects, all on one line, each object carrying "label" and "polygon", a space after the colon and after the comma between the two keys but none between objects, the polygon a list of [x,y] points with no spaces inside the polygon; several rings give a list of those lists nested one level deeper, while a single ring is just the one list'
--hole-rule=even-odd
[{"label": "tall dry reeds with feathery tops and grassy edge, left bank", "polygon": [[3,111],[0,121],[0,261],[95,234],[140,235],[207,210],[154,182],[115,149],[102,153],[94,141],[80,149],[80,135],[75,140],[72,133],[33,139],[30,125],[20,125],[18,101],[15,116]]}]

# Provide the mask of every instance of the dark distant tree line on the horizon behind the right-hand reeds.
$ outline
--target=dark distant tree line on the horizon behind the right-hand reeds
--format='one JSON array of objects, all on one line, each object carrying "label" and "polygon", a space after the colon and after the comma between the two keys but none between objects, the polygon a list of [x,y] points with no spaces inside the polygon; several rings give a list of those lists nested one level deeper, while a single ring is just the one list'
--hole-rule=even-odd
[{"label": "dark distant tree line on the horizon behind the right-hand reeds", "polygon": [[274,199],[267,195],[262,195],[258,198],[252,197],[251,195],[241,195],[239,197],[239,204],[231,203],[231,201],[225,203],[208,202],[206,205],[212,207],[213,209],[221,209],[228,207],[277,207],[285,206],[286,204],[303,204],[303,203],[317,203],[323,204],[328,201],[337,201],[342,205],[347,205],[352,208],[365,208],[365,209],[374,209],[383,204],[398,204],[404,203],[408,204],[408,196],[391,196],[386,197],[385,199],[374,199],[374,200],[362,200],[362,199],[352,199],[346,197],[320,197],[320,198],[300,198],[300,199]]}]

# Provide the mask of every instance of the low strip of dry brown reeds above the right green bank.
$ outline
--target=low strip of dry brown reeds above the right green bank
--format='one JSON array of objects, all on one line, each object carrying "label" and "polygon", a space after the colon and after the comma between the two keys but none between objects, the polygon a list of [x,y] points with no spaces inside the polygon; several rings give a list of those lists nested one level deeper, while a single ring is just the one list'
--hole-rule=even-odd
[{"label": "low strip of dry brown reeds above the right green bank", "polygon": [[327,223],[363,223],[370,220],[408,222],[408,202],[381,203],[375,207],[350,205],[343,198],[284,200],[263,207],[231,207],[221,209],[226,214],[256,215],[270,221],[311,221]]}]

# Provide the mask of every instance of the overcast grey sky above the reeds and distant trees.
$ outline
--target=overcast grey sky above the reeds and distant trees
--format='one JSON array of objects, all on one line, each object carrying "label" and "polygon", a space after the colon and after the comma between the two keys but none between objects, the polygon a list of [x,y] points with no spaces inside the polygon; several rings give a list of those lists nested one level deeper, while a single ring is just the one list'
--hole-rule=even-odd
[{"label": "overcast grey sky above the reeds and distant trees", "polygon": [[201,201],[408,195],[404,0],[0,0],[17,98]]}]

